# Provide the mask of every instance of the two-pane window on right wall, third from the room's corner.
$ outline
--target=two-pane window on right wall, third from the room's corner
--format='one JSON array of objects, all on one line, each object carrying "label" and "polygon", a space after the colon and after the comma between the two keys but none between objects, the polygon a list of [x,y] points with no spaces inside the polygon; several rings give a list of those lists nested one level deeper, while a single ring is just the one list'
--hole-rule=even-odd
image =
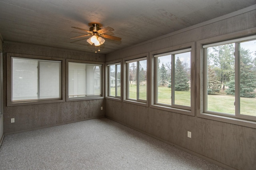
[{"label": "two-pane window on right wall, third from the room's corner", "polygon": [[154,104],[190,110],[191,48],[154,55]]}]

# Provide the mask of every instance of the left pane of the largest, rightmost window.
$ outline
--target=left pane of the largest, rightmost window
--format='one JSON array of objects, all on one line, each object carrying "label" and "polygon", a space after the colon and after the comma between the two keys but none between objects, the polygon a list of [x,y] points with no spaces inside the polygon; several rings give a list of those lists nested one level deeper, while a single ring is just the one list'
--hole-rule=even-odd
[{"label": "left pane of the largest, rightmost window", "polygon": [[207,48],[206,60],[207,110],[234,115],[234,43]]}]

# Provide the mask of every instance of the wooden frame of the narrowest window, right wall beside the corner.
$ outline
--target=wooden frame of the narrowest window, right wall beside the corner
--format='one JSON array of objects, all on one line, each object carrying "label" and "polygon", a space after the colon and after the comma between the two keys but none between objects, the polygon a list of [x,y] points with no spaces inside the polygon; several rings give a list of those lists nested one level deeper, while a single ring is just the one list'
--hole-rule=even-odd
[{"label": "wooden frame of the narrowest window, right wall beside the corner", "polygon": [[[120,67],[121,67],[121,80],[120,80],[120,96],[110,96],[109,95],[109,88],[110,88],[110,86],[109,86],[109,66],[111,66],[111,65],[117,65],[117,64],[120,64]],[[116,73],[117,74],[117,73]],[[122,59],[120,59],[120,60],[115,60],[115,61],[110,61],[110,62],[106,62],[106,81],[105,81],[105,84],[106,84],[106,90],[105,90],[105,92],[106,92],[106,94],[105,94],[105,98],[106,99],[111,99],[111,100],[116,100],[116,101],[120,101],[120,102],[122,102],[122,87],[123,87],[123,64],[122,64]]]}]

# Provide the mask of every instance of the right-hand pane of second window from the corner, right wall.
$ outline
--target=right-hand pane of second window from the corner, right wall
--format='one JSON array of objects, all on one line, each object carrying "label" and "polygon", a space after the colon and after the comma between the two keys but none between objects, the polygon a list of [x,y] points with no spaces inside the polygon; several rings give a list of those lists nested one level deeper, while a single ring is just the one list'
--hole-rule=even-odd
[{"label": "right-hand pane of second window from the corner, right wall", "polygon": [[147,100],[147,61],[139,61],[139,99]]}]

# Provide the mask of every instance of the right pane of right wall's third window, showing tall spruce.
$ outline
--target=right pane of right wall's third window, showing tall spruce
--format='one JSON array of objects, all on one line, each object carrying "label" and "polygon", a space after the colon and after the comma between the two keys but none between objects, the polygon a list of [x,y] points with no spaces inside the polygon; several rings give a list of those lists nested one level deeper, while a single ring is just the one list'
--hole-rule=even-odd
[{"label": "right pane of right wall's third window, showing tall spruce", "polygon": [[174,55],[174,104],[190,107],[190,52]]}]

